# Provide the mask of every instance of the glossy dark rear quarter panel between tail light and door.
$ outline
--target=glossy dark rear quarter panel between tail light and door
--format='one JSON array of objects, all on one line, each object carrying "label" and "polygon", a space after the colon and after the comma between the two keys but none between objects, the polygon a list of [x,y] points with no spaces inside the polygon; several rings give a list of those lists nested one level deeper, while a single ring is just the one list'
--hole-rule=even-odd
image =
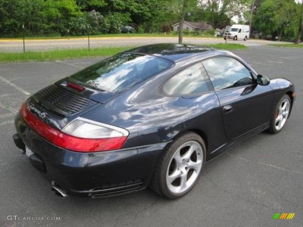
[{"label": "glossy dark rear quarter panel between tail light and door", "polygon": [[190,97],[165,96],[158,88],[168,77],[155,77],[82,117],[127,129],[130,134],[124,148],[170,142],[179,133],[189,130],[207,137],[208,152],[226,143],[215,92]]}]

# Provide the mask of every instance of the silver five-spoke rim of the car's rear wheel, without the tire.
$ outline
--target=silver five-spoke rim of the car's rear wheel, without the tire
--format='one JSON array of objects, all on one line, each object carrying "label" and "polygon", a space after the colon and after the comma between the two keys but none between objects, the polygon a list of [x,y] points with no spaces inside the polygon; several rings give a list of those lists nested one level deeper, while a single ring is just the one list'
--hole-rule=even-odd
[{"label": "silver five-spoke rim of the car's rear wheel, without the tire", "polygon": [[189,189],[198,178],[203,164],[203,148],[197,141],[183,143],[171,157],[166,170],[166,185],[174,194]]}]

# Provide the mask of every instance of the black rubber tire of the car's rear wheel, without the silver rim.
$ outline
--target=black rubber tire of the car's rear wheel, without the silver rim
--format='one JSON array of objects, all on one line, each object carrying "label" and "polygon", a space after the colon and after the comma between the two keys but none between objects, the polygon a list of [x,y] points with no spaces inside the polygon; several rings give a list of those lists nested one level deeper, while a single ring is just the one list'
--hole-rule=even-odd
[{"label": "black rubber tire of the car's rear wheel, without the silver rim", "polygon": [[[171,165],[172,165],[171,163],[172,163],[172,160],[173,160],[173,156],[177,153],[178,148],[180,148],[183,144],[191,143],[192,141],[197,142],[202,148],[203,157],[201,158],[201,160],[202,160],[201,169],[199,170],[198,173],[195,174],[196,179],[191,182],[190,187],[188,189],[186,189],[184,192],[176,194],[176,193],[171,192],[171,190],[168,188],[168,183],[166,182],[166,179],[167,179],[166,175],[167,174],[169,175],[169,171],[170,171],[170,168],[171,168]],[[181,150],[180,150],[180,153],[181,153]],[[153,190],[158,195],[163,196],[167,199],[178,199],[178,198],[184,196],[197,183],[197,181],[199,179],[199,176],[201,175],[201,172],[202,172],[202,170],[204,169],[204,166],[205,166],[205,154],[206,154],[205,143],[198,134],[196,134],[194,132],[187,132],[187,133],[183,133],[183,134],[177,136],[174,139],[174,141],[164,150],[164,153],[161,156],[161,158],[158,162],[158,165],[155,169],[155,173],[152,177],[152,180],[151,180],[151,183],[150,183],[150,186],[149,186],[150,189]],[[181,158],[182,158],[182,156],[181,156]],[[186,169],[186,167],[185,167],[185,169]],[[179,170],[179,168],[178,168],[178,170]],[[189,173],[190,170],[187,170],[188,173]],[[193,171],[195,171],[195,170],[193,170]],[[188,174],[188,173],[186,173],[186,174]],[[187,178],[191,178],[191,176],[186,175],[185,178],[186,178],[186,183],[187,183]],[[181,186],[181,176],[180,176],[180,186]]]}]

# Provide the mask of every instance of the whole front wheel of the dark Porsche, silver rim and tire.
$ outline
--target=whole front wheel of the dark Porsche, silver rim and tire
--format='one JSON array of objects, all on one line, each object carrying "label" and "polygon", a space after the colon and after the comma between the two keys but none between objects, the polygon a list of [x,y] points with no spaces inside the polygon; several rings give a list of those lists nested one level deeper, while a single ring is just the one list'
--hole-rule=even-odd
[{"label": "whole front wheel of the dark Porsche, silver rim and tire", "polygon": [[285,94],[277,103],[274,112],[271,115],[271,120],[268,132],[276,134],[279,133],[289,117],[291,108],[290,97]]}]

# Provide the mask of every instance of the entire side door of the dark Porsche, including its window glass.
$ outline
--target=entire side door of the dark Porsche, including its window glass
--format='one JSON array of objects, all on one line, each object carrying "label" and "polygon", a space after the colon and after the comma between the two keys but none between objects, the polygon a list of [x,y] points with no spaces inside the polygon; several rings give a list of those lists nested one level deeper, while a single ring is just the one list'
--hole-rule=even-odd
[{"label": "entire side door of the dark Porsche, including its window glass", "polygon": [[203,61],[218,96],[225,132],[234,139],[268,121],[272,89],[258,85],[251,71],[232,57]]}]

